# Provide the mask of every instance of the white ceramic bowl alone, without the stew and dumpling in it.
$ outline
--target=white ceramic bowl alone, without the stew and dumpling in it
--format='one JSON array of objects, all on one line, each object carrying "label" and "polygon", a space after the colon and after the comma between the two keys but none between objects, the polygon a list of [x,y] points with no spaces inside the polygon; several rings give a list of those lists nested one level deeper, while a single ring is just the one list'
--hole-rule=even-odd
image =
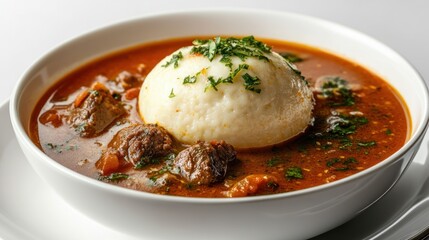
[{"label": "white ceramic bowl alone, without the stew and dumpling in it", "polygon": [[[412,118],[411,137],[388,159],[351,177],[295,192],[236,199],[162,196],[108,185],[65,168],[28,137],[36,101],[69,70],[144,42],[218,34],[299,42],[366,66],[402,94]],[[393,186],[419,148],[428,125],[426,85],[393,50],[324,20],[258,10],[151,15],[85,34],[39,59],[20,79],[10,104],[20,146],[41,178],[95,221],[150,239],[305,239],[325,232],[356,216]]]}]

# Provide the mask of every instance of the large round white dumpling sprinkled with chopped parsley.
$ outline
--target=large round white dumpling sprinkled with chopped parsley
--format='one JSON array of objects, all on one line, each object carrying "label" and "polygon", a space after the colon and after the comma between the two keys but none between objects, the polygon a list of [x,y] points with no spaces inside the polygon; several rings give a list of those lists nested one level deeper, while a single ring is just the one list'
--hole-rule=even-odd
[{"label": "large round white dumpling sprinkled with chopped parsley", "polygon": [[[279,54],[230,56],[228,66],[221,54],[192,49],[167,56],[146,77],[139,95],[146,123],[183,143],[224,140],[238,149],[284,142],[311,123],[312,91]],[[222,82],[228,76],[232,83]]]}]

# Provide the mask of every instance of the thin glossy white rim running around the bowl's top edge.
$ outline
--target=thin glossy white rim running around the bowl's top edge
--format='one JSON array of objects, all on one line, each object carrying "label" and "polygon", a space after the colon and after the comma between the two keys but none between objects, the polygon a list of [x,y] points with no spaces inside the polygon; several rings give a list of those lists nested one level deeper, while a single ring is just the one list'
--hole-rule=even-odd
[{"label": "thin glossy white rim running around the bowl's top edge", "polygon": [[[199,197],[183,197],[183,196],[173,196],[173,195],[161,195],[156,193],[148,193],[143,191],[137,191],[132,190],[124,187],[119,187],[111,184],[106,184],[104,182],[98,181],[97,179],[85,176],[83,174],[80,174],[78,172],[75,172],[54,159],[48,157],[41,149],[39,149],[33,141],[29,138],[27,131],[25,130],[23,123],[21,123],[20,117],[19,117],[19,103],[20,103],[20,96],[23,89],[26,88],[26,85],[28,84],[28,79],[31,77],[31,73],[34,69],[36,69],[44,60],[47,60],[52,56],[55,52],[60,51],[62,48],[66,48],[68,45],[88,38],[89,36],[96,35],[100,32],[109,31],[111,28],[118,28],[121,26],[125,26],[128,24],[136,23],[136,22],[144,22],[151,19],[160,19],[160,18],[180,18],[183,16],[194,16],[195,15],[204,15],[204,14],[222,14],[222,13],[234,13],[234,14],[252,14],[252,13],[258,13],[258,14],[270,14],[270,15],[283,15],[293,18],[299,18],[307,21],[311,21],[312,23],[318,23],[323,24],[325,26],[328,26],[330,28],[335,28],[335,31],[341,32],[341,34],[352,34],[354,36],[357,36],[359,38],[362,38],[362,40],[369,41],[373,44],[376,44],[377,46],[380,46],[383,48],[384,51],[387,51],[392,56],[396,57],[397,59],[401,60],[404,64],[408,65],[410,70],[414,71],[416,74],[416,77],[419,80],[419,83],[423,87],[424,92],[424,105],[426,106],[424,111],[424,114],[422,115],[422,121],[421,123],[415,128],[414,133],[412,133],[409,137],[409,139],[406,141],[406,143],[395,153],[390,155],[388,158],[382,160],[381,162],[377,163],[376,165],[367,168],[365,170],[362,170],[358,173],[355,173],[351,176],[348,176],[346,178],[336,180],[334,182],[325,183],[322,185],[302,189],[302,190],[296,190],[291,192],[285,192],[285,193],[278,193],[278,194],[270,194],[270,195],[262,195],[262,196],[246,196],[246,197],[240,197],[240,198],[199,198]],[[108,54],[108,53],[105,53]],[[335,53],[334,53],[335,54]],[[52,83],[51,83],[52,85]],[[5,102],[7,103],[7,101]],[[109,191],[117,195],[125,195],[127,197],[133,197],[133,198],[141,198],[141,199],[151,199],[156,201],[174,201],[174,202],[181,202],[181,203],[192,203],[192,204],[225,204],[225,203],[244,203],[244,202],[255,202],[255,201],[267,201],[267,200],[276,200],[276,199],[282,199],[282,198],[293,198],[297,196],[307,195],[314,192],[319,191],[325,191],[326,189],[335,188],[336,186],[345,184],[347,182],[354,181],[356,179],[362,178],[365,175],[368,175],[369,173],[379,171],[380,169],[386,168],[389,165],[394,164],[398,159],[400,159],[402,156],[404,156],[410,149],[414,148],[416,145],[419,144],[419,140],[421,140],[428,128],[429,125],[429,110],[428,110],[428,104],[429,104],[429,91],[427,83],[424,81],[421,74],[415,69],[414,66],[410,64],[409,61],[407,61],[402,55],[400,55],[398,52],[393,50],[392,48],[388,47],[386,44],[370,37],[369,35],[362,33],[360,31],[354,30],[352,28],[349,28],[347,26],[328,21],[325,19],[321,19],[314,16],[309,16],[305,14],[300,13],[294,13],[294,12],[286,12],[286,11],[276,11],[276,10],[261,10],[261,9],[251,9],[251,8],[213,8],[213,9],[193,9],[193,10],[179,10],[179,11],[166,11],[166,12],[155,12],[150,14],[144,14],[142,16],[138,17],[131,17],[129,19],[121,20],[116,23],[106,24],[101,27],[97,27],[95,29],[89,30],[87,32],[81,33],[76,37],[70,38],[68,40],[63,41],[62,43],[59,43],[58,45],[54,46],[53,48],[47,50],[43,55],[41,55],[38,59],[36,59],[30,67],[26,69],[26,71],[19,77],[19,80],[17,84],[15,85],[10,101],[9,101],[9,113],[10,113],[10,120],[12,123],[12,127],[14,129],[15,135],[20,141],[21,144],[23,144],[26,148],[31,149],[31,151],[36,154],[37,158],[41,159],[41,161],[44,162],[44,164],[49,164],[50,167],[54,168],[55,171],[59,171],[62,174],[64,174],[68,178],[74,178],[80,182],[83,182],[84,184],[89,184],[91,187],[99,188],[103,191]],[[27,159],[28,160],[28,159]],[[407,165],[412,161],[408,161]],[[407,167],[407,166],[406,166]],[[405,167],[405,168],[406,168]],[[404,170],[405,170],[404,168]],[[402,171],[402,173],[404,172]],[[402,175],[400,174],[400,176]],[[396,179],[396,181],[400,178],[400,176]],[[395,181],[395,182],[396,182]],[[390,188],[393,187],[394,184]],[[389,188],[389,189],[390,189]],[[387,189],[386,192],[389,190]]]}]

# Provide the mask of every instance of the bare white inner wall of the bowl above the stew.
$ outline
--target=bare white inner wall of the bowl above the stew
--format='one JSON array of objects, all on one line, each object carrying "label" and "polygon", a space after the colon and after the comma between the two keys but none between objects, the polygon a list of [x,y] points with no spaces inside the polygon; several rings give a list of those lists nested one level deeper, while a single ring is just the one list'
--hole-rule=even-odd
[{"label": "bare white inner wall of the bowl above the stew", "polygon": [[[147,16],[75,38],[42,57],[24,74],[13,95],[12,115],[17,116],[24,133],[36,102],[56,79],[112,51],[185,36],[254,35],[311,45],[367,67],[396,88],[409,108],[411,137],[403,149],[424,131],[428,118],[426,86],[412,66],[385,45],[354,30],[308,16],[248,10],[221,14],[219,17],[216,11],[197,11]],[[31,142],[27,136],[24,138]]]}]

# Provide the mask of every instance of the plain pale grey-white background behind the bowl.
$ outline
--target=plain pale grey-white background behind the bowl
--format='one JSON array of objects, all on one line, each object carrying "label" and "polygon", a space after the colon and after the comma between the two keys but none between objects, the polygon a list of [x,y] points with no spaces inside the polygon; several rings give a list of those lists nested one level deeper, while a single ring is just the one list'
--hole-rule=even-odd
[{"label": "plain pale grey-white background behind the bowl", "polygon": [[425,0],[0,0],[0,103],[33,62],[70,38],[148,13],[201,8],[270,9],[335,21],[384,42],[429,80]]}]

